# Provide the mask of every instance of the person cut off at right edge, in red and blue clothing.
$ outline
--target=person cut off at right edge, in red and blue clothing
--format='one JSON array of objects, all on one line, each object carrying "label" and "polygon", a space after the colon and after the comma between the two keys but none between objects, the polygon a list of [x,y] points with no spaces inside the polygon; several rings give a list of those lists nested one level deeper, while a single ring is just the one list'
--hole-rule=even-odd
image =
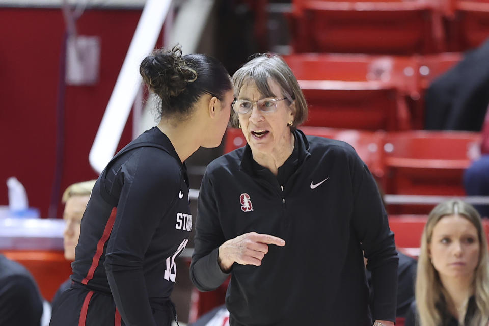
[{"label": "person cut off at right edge, in red and blue clothing", "polygon": [[[481,157],[464,171],[464,187],[469,196],[489,196],[489,108],[482,125],[480,154]],[[483,218],[489,218],[489,205],[474,207]]]}]

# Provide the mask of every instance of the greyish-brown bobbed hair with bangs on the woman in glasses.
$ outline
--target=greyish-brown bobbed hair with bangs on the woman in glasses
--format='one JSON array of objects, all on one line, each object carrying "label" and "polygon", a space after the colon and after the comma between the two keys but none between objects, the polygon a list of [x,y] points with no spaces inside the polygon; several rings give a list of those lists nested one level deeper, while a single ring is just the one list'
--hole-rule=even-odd
[{"label": "greyish-brown bobbed hair with bangs on the woman in glasses", "polygon": [[[270,90],[268,79],[274,80],[279,84],[282,94],[274,94]],[[292,131],[307,120],[306,98],[292,70],[282,57],[265,53],[264,55],[256,56],[239,68],[233,74],[235,96],[239,96],[241,88],[248,83],[254,83],[260,93],[266,97],[283,96],[289,101],[289,104],[295,101],[295,116],[290,126]],[[237,127],[238,124],[238,114],[233,111],[231,125]]]}]

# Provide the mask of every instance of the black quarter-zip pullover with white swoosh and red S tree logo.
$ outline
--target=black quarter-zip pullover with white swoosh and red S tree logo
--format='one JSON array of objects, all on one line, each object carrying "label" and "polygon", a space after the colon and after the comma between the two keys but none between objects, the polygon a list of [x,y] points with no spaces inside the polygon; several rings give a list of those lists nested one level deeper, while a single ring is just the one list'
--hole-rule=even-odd
[{"label": "black quarter-zip pullover with white swoosh and red S tree logo", "polygon": [[[231,325],[371,325],[362,250],[372,272],[373,318],[396,317],[394,234],[368,168],[348,144],[306,137],[278,176],[250,147],[208,165],[199,195],[191,278],[201,291],[228,277],[218,247],[247,232],[278,236],[261,266],[234,264]],[[281,182],[279,182],[281,180]]]}]

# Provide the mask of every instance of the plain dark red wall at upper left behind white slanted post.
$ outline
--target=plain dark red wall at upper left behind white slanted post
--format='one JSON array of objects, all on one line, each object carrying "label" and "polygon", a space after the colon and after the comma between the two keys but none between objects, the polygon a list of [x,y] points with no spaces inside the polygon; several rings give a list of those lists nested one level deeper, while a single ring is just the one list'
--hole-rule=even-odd
[{"label": "plain dark red wall at upper left behind white slanted post", "polygon": [[[99,82],[66,88],[64,189],[96,178],[88,154],[111,96],[141,10],[86,10],[78,33],[100,37]],[[16,176],[31,207],[46,217],[56,163],[59,57],[65,23],[61,9],[0,8],[0,205],[6,180]],[[119,148],[132,137],[129,119]],[[57,216],[62,215],[62,206]]]}]

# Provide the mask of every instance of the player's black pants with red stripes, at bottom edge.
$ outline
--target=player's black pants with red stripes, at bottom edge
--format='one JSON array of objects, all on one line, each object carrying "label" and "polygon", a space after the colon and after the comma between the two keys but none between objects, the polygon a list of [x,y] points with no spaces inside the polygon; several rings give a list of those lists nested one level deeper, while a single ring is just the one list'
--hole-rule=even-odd
[{"label": "player's black pants with red stripes, at bottom edge", "polygon": [[[49,326],[125,326],[112,295],[84,288],[63,292],[53,307]],[[175,306],[152,308],[158,326],[170,326],[175,318]]]}]

